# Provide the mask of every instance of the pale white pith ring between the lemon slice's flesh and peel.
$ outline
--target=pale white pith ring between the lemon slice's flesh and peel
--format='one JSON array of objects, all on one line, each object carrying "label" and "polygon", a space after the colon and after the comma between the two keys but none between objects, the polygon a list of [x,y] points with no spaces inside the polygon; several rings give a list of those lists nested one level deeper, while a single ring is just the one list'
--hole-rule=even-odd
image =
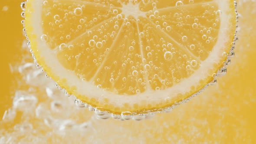
[{"label": "pale white pith ring between the lemon slice's flesh and peel", "polygon": [[[158,103],[158,101],[164,101],[165,98],[174,98],[177,94],[184,94],[190,91],[191,86],[197,86],[201,79],[205,79],[209,76],[207,72],[208,69],[213,68],[214,64],[221,63],[220,59],[223,59],[223,52],[225,52],[226,43],[230,43],[230,34],[228,33],[230,27],[229,18],[232,16],[232,13],[227,14],[225,9],[229,8],[229,1],[221,1],[221,0],[213,0],[216,3],[221,3],[219,5],[219,9],[222,10],[222,15],[220,16],[220,31],[219,37],[216,45],[211,51],[209,57],[201,63],[201,67],[194,72],[189,78],[181,81],[180,83],[172,86],[171,88],[167,88],[161,91],[147,90],[141,94],[136,95],[117,95],[113,92],[103,91],[93,85],[92,82],[81,81],[74,72],[66,70],[61,63],[56,58],[56,54],[53,50],[48,48],[46,43],[43,43],[40,39],[40,36],[43,35],[43,29],[41,28],[41,13],[42,13],[42,3],[43,0],[36,0],[33,3],[33,7],[36,7],[33,13],[33,26],[36,31],[38,50],[40,52],[40,56],[44,58],[45,64],[48,65],[52,73],[58,75],[60,78],[64,78],[67,80],[68,84],[72,84],[69,86],[75,86],[77,88],[77,93],[81,95],[85,95],[86,97],[96,98],[98,101],[103,101],[103,98],[108,98],[109,104],[113,104],[115,106],[121,107],[124,103],[129,104],[140,104],[141,101],[154,101],[154,103]],[[227,11],[230,12],[230,11]],[[226,23],[223,23],[226,22]],[[222,64],[222,63],[221,63]],[[221,65],[220,65],[221,67]],[[207,80],[206,80],[207,81]]]}]

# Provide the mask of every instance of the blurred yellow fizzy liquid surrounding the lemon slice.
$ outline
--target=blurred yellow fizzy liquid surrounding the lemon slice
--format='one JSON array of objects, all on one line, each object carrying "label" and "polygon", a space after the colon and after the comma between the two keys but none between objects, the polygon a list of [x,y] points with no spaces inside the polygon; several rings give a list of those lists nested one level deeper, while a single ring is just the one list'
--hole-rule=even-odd
[{"label": "blurred yellow fizzy liquid surrounding the lemon slice", "polygon": [[[20,32],[20,2],[0,3],[1,18],[11,17],[7,20],[13,24],[0,24],[6,28],[5,36],[1,37],[2,47],[6,48],[1,50],[6,53],[1,56],[5,69],[1,70],[0,117],[4,111],[6,114],[0,122],[0,143],[256,143],[256,116],[253,115],[256,112],[256,26],[253,24],[256,3],[253,0],[238,1],[240,40],[227,75],[171,113],[144,121],[98,120],[91,111],[75,107],[72,98],[53,88],[54,83],[32,64],[30,54],[24,50],[26,45],[22,46],[25,39]],[[5,6],[9,11],[1,11]],[[13,62],[13,55],[22,57],[23,61]],[[12,62],[12,74],[7,62]]]}]

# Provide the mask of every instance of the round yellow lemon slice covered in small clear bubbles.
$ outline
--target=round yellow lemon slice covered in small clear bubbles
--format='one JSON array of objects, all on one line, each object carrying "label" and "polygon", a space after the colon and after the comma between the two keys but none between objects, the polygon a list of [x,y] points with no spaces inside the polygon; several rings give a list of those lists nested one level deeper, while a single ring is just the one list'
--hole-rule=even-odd
[{"label": "round yellow lemon slice covered in small clear bubbles", "polygon": [[27,0],[25,16],[35,62],[116,115],[188,100],[233,55],[233,0]]}]

